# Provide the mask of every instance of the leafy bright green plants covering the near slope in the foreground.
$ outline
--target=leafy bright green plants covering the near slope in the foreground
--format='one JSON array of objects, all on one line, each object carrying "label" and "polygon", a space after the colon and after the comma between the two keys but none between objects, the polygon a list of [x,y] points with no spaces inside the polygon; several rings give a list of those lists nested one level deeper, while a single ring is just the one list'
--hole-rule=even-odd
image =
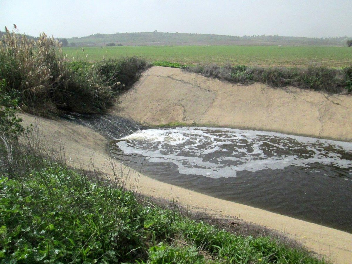
[{"label": "leafy bright green plants covering the near slope in the foreground", "polygon": [[[0,259],[17,263],[324,263],[138,202],[56,163],[0,177]],[[205,258],[205,256],[207,258]]]}]

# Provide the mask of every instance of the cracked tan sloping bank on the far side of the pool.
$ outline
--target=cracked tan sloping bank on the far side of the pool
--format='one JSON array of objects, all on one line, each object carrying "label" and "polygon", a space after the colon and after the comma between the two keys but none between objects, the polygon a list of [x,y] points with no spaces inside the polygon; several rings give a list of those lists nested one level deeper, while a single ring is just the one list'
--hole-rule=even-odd
[{"label": "cracked tan sloping bank on the far side of the pool", "polygon": [[182,122],[352,141],[352,96],[237,85],[167,67],[145,71],[113,112],[144,125]]}]

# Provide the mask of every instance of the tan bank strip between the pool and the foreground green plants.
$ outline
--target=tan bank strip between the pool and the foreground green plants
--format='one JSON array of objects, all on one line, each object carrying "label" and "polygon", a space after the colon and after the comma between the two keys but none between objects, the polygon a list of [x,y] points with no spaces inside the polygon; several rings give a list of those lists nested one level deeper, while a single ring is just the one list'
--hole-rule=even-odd
[{"label": "tan bank strip between the pool and the foreground green plants", "polygon": [[[36,123],[41,142],[46,149],[64,150],[67,164],[77,168],[99,169],[112,175],[112,165],[107,154],[107,140],[93,130],[67,121],[54,121],[21,114],[24,124]],[[117,171],[132,185],[138,183],[138,190],[149,196],[176,199],[184,206],[195,210],[204,208],[207,213],[219,216],[240,216],[241,219],[260,224],[301,241],[304,246],[332,259],[334,263],[350,263],[352,259],[352,234],[323,227],[309,222],[271,213],[258,208],[241,205],[199,194],[184,188],[171,186],[153,180],[138,172],[115,163]]]}]

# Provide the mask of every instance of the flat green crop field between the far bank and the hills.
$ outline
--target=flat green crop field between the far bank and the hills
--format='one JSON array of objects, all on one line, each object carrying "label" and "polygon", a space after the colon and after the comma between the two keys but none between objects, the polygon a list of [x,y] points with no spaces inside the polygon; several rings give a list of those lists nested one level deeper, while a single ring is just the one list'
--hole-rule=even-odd
[{"label": "flat green crop field between the far bank and the hills", "polygon": [[[149,61],[184,64],[216,63],[259,66],[345,67],[352,64],[352,48],[324,46],[122,46],[64,47],[69,58],[100,61],[121,56],[142,56]],[[88,57],[86,57],[88,54]]]}]

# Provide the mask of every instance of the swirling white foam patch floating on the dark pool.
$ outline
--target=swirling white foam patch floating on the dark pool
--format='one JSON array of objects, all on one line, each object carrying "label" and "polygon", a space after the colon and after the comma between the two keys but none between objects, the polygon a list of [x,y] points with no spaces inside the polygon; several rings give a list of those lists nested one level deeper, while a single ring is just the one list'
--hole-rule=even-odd
[{"label": "swirling white foam patch floating on the dark pool", "polygon": [[[308,167],[352,169],[352,143],[231,128],[179,127],[133,133],[116,143],[149,162],[172,162],[181,174],[235,177],[237,171]],[[327,149],[326,149],[327,148]],[[342,159],[341,154],[348,159]]]}]

